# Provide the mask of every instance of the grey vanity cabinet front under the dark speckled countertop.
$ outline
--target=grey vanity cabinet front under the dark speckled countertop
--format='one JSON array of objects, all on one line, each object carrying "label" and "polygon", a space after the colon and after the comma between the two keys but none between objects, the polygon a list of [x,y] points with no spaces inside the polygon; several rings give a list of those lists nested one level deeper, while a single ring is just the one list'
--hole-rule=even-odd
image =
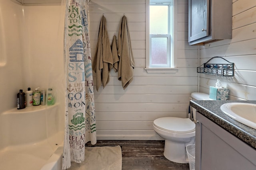
[{"label": "grey vanity cabinet front under the dark speckled countertop", "polygon": [[256,149],[196,112],[196,170],[256,170]]}]

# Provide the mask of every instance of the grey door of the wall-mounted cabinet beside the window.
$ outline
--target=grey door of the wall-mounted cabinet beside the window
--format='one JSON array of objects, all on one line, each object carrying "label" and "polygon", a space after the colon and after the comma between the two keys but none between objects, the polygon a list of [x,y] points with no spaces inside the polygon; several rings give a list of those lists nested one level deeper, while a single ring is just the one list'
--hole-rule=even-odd
[{"label": "grey door of the wall-mounted cabinet beside the window", "polygon": [[209,35],[209,0],[188,1],[188,42]]}]

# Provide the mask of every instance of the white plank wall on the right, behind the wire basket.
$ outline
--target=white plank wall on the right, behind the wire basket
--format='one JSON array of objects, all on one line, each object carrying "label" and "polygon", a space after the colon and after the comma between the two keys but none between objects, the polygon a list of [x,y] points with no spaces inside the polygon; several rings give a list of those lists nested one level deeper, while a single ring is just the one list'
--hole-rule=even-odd
[{"label": "white plank wall on the right, behind the wire basket", "polygon": [[200,64],[220,56],[235,64],[234,76],[200,74],[200,91],[209,92],[220,79],[229,100],[256,100],[256,1],[233,0],[232,39],[200,46]]}]

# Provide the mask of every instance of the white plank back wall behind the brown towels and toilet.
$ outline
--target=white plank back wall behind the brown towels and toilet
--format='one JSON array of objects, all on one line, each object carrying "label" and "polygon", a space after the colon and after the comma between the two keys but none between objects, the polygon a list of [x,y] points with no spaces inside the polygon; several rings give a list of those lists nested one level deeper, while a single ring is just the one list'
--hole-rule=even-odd
[{"label": "white plank back wall behind the brown towels and toilet", "polygon": [[[94,89],[97,139],[99,140],[156,140],[153,130],[158,117],[186,117],[189,97],[198,90],[198,47],[189,46],[188,0],[178,0],[178,31],[176,74],[147,73],[145,0],[91,0],[89,31],[92,56],[97,44],[100,19],[107,21],[110,43],[118,35],[122,16],[128,19],[135,68],[134,80],[122,89],[117,73],[110,72],[110,82],[99,92]],[[95,79],[95,74],[94,74]]]}]

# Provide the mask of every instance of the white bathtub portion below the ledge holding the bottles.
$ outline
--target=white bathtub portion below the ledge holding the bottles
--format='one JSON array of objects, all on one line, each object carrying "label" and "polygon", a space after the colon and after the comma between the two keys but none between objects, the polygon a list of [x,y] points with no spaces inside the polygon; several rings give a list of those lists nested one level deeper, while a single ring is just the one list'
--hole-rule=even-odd
[{"label": "white bathtub portion below the ledge holding the bottles", "polygon": [[0,170],[61,170],[64,116],[59,104],[0,115]]}]

